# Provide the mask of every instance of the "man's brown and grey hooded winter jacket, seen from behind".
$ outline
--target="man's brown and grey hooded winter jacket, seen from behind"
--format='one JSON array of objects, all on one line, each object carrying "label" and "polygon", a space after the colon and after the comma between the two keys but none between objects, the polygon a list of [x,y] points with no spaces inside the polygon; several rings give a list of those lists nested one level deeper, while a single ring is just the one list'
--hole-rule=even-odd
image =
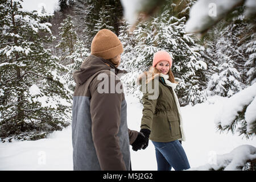
[{"label": "man's brown and grey hooded winter jacket, seen from behind", "polygon": [[127,128],[125,95],[115,90],[123,91],[117,76],[121,72],[109,61],[90,55],[73,73],[74,170],[130,169],[129,144],[138,132]]}]

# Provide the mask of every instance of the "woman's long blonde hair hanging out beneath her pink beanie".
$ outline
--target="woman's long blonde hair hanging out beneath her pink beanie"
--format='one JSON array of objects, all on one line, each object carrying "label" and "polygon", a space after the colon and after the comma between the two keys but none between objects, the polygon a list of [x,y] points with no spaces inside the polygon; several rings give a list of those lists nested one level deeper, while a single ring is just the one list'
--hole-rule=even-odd
[{"label": "woman's long blonde hair hanging out beneath her pink beanie", "polygon": [[[144,72],[138,76],[137,83],[139,84],[139,82],[142,80],[142,77],[146,77],[146,84],[147,84],[151,80],[154,80],[155,77],[159,76],[160,73],[161,72],[155,67],[150,67],[150,69],[147,72]],[[170,80],[172,83],[178,84],[178,82],[175,81],[174,73],[172,73],[171,69],[167,74],[169,75],[168,80]]]}]

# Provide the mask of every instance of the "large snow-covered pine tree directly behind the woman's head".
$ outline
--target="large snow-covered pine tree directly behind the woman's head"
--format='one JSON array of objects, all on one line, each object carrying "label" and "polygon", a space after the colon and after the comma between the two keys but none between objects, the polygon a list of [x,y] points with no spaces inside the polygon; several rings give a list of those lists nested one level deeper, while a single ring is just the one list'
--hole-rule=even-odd
[{"label": "large snow-covered pine tree directly behind the woman's head", "polygon": [[139,40],[134,47],[137,56],[131,67],[140,72],[146,71],[152,65],[156,51],[170,52],[174,61],[172,72],[179,82],[177,95],[181,105],[194,105],[204,101],[203,70],[207,65],[199,53],[201,46],[196,43],[196,38],[184,32],[185,19],[184,16],[180,19],[172,16],[172,9],[165,5],[162,14],[139,23],[134,30],[135,38]]}]

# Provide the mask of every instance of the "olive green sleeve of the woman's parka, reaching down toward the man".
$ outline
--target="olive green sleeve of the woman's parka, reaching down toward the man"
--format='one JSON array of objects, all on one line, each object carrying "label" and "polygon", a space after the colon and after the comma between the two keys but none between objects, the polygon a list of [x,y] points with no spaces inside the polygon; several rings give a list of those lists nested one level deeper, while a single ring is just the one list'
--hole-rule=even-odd
[{"label": "olive green sleeve of the woman's parka, reaching down toward the man", "polygon": [[[142,102],[143,102],[143,110],[142,110],[142,121],[141,121],[141,129],[151,130],[151,124],[155,113],[156,102],[159,96],[159,86],[154,84],[159,82],[151,81],[148,86],[146,85],[146,93],[143,93]],[[143,86],[143,85],[142,85]]]}]

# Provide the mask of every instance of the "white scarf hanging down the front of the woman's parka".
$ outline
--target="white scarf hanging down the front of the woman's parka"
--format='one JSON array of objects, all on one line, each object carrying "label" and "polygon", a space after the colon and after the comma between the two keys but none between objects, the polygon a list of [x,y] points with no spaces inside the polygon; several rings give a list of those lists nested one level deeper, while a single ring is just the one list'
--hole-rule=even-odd
[{"label": "white scarf hanging down the front of the woman's parka", "polygon": [[182,117],[181,117],[180,104],[179,104],[179,100],[178,100],[178,98],[177,98],[177,94],[176,94],[175,91],[174,91],[174,89],[176,89],[177,84],[172,83],[170,80],[168,80],[169,75],[163,75],[162,73],[160,73],[159,76],[164,78],[164,81],[166,82],[166,85],[171,86],[172,91],[174,92],[174,98],[175,98],[175,102],[176,102],[176,105],[177,105],[177,110],[178,110],[179,116],[180,116],[180,131],[181,131],[181,137],[182,137],[182,138],[180,138],[179,140],[185,141],[185,135],[184,135],[183,125],[182,125],[183,119],[182,119]]}]

